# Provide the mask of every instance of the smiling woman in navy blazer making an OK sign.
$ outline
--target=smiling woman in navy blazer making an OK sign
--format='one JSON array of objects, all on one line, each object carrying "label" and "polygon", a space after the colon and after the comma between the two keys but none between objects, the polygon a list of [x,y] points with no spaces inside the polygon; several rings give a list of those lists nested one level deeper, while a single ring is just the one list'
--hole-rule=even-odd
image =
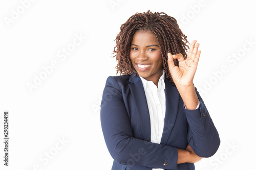
[{"label": "smiling woman in navy blazer making an OK sign", "polygon": [[136,13],[120,28],[101,103],[112,169],[195,169],[216,153],[219,134],[193,78],[201,51],[175,18]]}]

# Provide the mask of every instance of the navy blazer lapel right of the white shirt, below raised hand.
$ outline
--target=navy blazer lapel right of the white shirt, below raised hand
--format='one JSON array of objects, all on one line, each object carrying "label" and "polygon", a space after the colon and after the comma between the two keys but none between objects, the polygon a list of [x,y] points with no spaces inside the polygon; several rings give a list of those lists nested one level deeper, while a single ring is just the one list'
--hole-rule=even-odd
[{"label": "navy blazer lapel right of the white shirt, below raised hand", "polygon": [[173,130],[177,113],[178,113],[179,98],[180,98],[180,94],[179,94],[179,91],[177,90],[177,87],[175,86],[175,83],[170,83],[166,78],[164,82],[165,82],[166,111],[165,111],[165,117],[164,117],[164,128],[163,128],[163,134],[161,138],[161,144],[167,143],[170,133]]}]

